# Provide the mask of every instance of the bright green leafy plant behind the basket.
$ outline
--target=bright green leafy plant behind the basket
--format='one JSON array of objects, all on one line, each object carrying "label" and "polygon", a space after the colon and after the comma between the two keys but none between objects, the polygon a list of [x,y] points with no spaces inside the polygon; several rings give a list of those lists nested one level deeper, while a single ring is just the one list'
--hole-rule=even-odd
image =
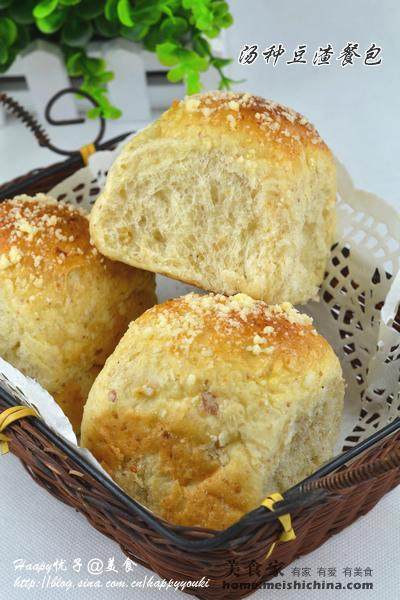
[{"label": "bright green leafy plant behind the basket", "polygon": [[107,96],[114,74],[106,61],[88,55],[91,40],[126,38],[156,53],[169,67],[171,82],[183,81],[188,94],[201,89],[200,73],[214,68],[219,87],[232,80],[230,59],[213,54],[209,40],[233,22],[223,0],[0,0],[0,72],[6,72],[31,42],[47,39],[63,53],[68,74],[98,103],[89,116],[115,119],[121,111]]}]

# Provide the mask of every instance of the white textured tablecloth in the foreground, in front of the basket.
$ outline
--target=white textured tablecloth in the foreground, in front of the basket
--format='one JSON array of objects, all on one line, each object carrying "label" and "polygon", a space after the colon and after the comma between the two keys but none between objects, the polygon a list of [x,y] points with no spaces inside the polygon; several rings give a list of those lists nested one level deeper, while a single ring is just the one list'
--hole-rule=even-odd
[{"label": "white textured tablecloth in the foreground, in front of the basket", "polygon": [[[93,529],[86,519],[55,500],[37,486],[19,461],[8,454],[0,460],[0,597],[7,600],[125,600],[127,598],[176,598],[174,590],[154,587],[110,588],[107,582],[145,582],[152,573],[141,566],[130,565],[126,572],[125,557],[119,547]],[[278,575],[276,583],[334,582],[343,586],[372,583],[372,590],[260,590],[255,599],[273,597],[282,600],[363,598],[363,600],[396,600],[400,589],[398,566],[400,520],[400,488],[388,494],[367,516],[359,519],[340,535],[331,538],[318,550],[302,557]],[[99,559],[101,563],[96,562]],[[114,560],[113,560],[114,559]],[[45,572],[29,569],[29,564],[51,564],[65,561],[66,570],[53,566],[50,581],[54,587],[42,588]],[[118,573],[107,571],[113,560]],[[14,563],[14,561],[18,561]],[[22,563],[21,561],[25,561]],[[80,562],[79,562],[80,561]],[[91,574],[93,564],[102,573]],[[19,566],[24,565],[24,568]],[[74,570],[81,564],[79,572]],[[96,566],[97,565],[97,566]],[[101,567],[102,565],[102,567]],[[227,564],[227,570],[229,565]],[[362,575],[358,575],[359,569]],[[293,569],[295,570],[293,573]],[[325,573],[323,572],[325,569]],[[328,575],[331,569],[336,576]],[[351,569],[349,574],[348,569]],[[369,573],[371,570],[372,575]],[[308,574],[309,573],[309,574]],[[158,579],[155,577],[155,579]],[[69,590],[62,585],[68,585]],[[64,583],[62,583],[64,582]],[[100,588],[78,587],[79,582],[101,585]],[[19,587],[19,586],[35,587]],[[110,585],[110,584],[108,584]],[[144,585],[144,584],[143,584]],[[154,582],[154,585],[156,583]],[[58,586],[58,587],[57,587]],[[183,598],[183,596],[182,596]]]}]

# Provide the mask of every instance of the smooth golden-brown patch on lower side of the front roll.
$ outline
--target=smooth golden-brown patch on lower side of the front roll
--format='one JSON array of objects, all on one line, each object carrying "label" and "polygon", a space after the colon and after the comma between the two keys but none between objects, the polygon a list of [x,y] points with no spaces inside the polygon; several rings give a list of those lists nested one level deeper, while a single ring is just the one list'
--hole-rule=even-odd
[{"label": "smooth golden-brown patch on lower side of the front roll", "polygon": [[143,476],[143,457],[157,453],[159,477],[172,483],[159,497],[152,497],[149,486],[139,500],[172,523],[220,529],[257,503],[248,485],[250,467],[247,481],[237,468],[221,472],[217,456],[209,450],[207,431],[185,418],[160,421],[134,410],[110,409],[96,420],[95,428],[85,430],[83,443],[128,491],[126,478]]}]

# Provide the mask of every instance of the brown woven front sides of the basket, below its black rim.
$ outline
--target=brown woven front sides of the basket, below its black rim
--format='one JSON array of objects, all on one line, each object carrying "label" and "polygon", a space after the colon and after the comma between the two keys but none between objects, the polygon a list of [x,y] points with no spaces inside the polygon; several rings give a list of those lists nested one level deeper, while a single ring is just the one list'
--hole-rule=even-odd
[{"label": "brown woven front sides of the basket, below its black rim", "polygon": [[[299,508],[292,514],[296,539],[277,544],[267,561],[268,549],[280,533],[278,522],[249,525],[241,538],[231,542],[229,547],[193,553],[177,547],[138,515],[127,511],[95,479],[79,470],[70,457],[52,447],[38,432],[34,421],[14,423],[7,429],[7,436],[11,452],[20,458],[33,479],[53,496],[83,513],[93,527],[115,540],[129,558],[167,580],[209,579],[209,587],[196,591],[196,595],[204,599],[248,595],[252,591],[249,586],[256,587],[271,579],[295,558],[320,546],[371,510],[400,483],[400,469],[392,469],[380,477],[330,494],[317,507]],[[400,432],[355,461],[346,475],[359,465],[388,456],[399,444]],[[206,539],[212,533],[177,528],[182,529],[187,537],[197,540]]]}]

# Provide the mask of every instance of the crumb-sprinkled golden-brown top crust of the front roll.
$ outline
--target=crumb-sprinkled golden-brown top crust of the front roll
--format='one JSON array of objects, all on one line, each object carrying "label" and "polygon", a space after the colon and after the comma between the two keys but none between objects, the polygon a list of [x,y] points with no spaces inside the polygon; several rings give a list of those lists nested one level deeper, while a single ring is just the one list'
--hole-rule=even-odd
[{"label": "crumb-sprinkled golden-brown top crust of the front roll", "polygon": [[[188,336],[190,339],[197,328],[199,343],[204,338],[214,353],[222,355],[248,350],[275,359],[279,356],[279,360],[296,356],[309,361],[324,348],[330,349],[328,342],[317,335],[312,320],[290,303],[270,306],[254,302],[245,294],[188,294],[154,306],[139,317],[137,324],[146,327],[146,322],[159,323],[167,332],[171,324],[169,347],[178,354],[186,352]],[[175,328],[175,323],[179,327]]]}]

